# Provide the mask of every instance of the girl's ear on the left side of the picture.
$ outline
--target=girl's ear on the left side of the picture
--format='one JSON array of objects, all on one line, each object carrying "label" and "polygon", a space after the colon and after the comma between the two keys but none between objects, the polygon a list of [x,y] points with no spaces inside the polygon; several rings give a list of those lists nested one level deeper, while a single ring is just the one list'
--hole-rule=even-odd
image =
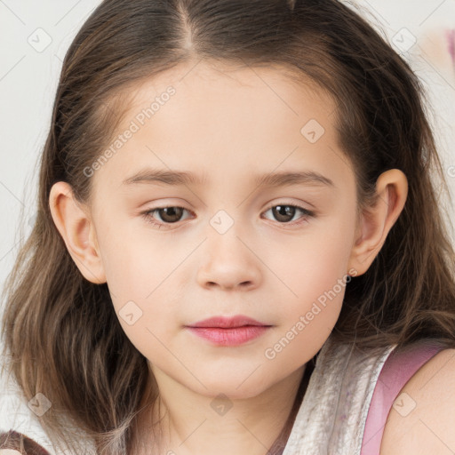
[{"label": "girl's ear on the left side of the picture", "polygon": [[100,248],[89,211],[76,201],[67,182],[59,181],[52,186],[49,205],[53,222],[84,278],[96,284],[106,283]]}]

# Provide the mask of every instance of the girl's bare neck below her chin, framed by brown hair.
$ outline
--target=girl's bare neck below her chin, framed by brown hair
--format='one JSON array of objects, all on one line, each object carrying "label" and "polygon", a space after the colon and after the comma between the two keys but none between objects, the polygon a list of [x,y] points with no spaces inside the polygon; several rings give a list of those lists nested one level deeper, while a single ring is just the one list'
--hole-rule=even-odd
[{"label": "girl's bare neck below her chin, framed by brown hair", "polygon": [[[311,371],[311,365],[303,365],[257,396],[229,400],[229,410],[220,415],[212,408],[212,396],[195,394],[169,379],[160,381],[158,372],[143,396],[131,453],[280,455]],[[160,393],[154,395],[158,385]]]}]

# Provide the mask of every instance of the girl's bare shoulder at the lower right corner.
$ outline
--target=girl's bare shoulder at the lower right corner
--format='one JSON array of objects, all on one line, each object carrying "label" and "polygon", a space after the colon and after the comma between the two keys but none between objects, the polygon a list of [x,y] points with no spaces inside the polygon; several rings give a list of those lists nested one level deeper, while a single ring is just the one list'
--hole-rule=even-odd
[{"label": "girl's bare shoulder at the lower right corner", "polygon": [[455,349],[424,363],[397,395],[380,455],[455,453]]}]

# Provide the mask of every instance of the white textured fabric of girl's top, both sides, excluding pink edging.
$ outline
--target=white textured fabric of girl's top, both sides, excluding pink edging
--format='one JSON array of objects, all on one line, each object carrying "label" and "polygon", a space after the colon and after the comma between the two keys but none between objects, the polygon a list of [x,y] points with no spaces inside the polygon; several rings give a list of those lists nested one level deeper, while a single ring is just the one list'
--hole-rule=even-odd
[{"label": "white textured fabric of girl's top, both sides, excluding pink edging", "polygon": [[[363,353],[352,345],[335,346],[331,339],[325,341],[316,358],[283,455],[360,455],[371,396],[394,347],[378,349],[376,354]],[[68,455],[69,451],[55,450],[32,411],[39,414],[45,403],[37,407],[37,403],[28,403],[11,379],[0,380],[0,433],[12,429],[51,455]],[[87,442],[85,453],[94,453],[91,442]]]}]

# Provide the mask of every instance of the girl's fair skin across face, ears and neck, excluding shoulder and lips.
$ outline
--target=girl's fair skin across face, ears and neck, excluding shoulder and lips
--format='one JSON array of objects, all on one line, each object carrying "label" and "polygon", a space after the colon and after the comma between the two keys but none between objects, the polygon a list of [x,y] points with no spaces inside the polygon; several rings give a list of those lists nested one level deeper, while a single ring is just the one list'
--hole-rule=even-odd
[{"label": "girl's fair skin across face, ears and neck, excluding shoulder and lips", "polygon": [[[338,319],[345,287],[274,358],[267,348],[324,291],[370,267],[403,210],[407,180],[396,169],[381,174],[378,204],[357,219],[355,176],[338,146],[333,100],[314,84],[292,83],[282,68],[206,61],[172,68],[132,92],[119,132],[169,85],[172,98],[90,177],[92,204],[76,204],[68,184],[58,182],[52,218],[84,277],[108,283],[117,315],[128,301],[142,312],[132,325],[119,321],[147,357],[165,411],[160,447],[144,429],[157,414],[141,419],[135,438],[143,452],[263,454],[291,411],[307,361]],[[315,143],[300,132],[310,119],[325,130]],[[204,173],[206,181],[122,184],[145,167]],[[334,188],[258,188],[253,181],[304,170]],[[283,221],[268,210],[280,204],[315,214],[296,210]],[[165,206],[188,212],[167,228],[140,215]],[[223,234],[211,225],[220,210],[233,221]],[[153,216],[169,220],[163,211]],[[183,327],[239,314],[272,327],[237,347],[213,346]],[[232,405],[224,415],[211,406],[220,393]]]}]

